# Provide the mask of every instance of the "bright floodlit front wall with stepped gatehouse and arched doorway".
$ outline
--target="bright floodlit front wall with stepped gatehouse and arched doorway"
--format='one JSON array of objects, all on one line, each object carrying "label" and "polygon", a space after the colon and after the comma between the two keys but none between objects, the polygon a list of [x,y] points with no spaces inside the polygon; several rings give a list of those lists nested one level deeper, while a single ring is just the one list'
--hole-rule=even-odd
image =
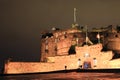
[{"label": "bright floodlit front wall with stepped gatehouse and arched doorway", "polygon": [[[5,64],[6,74],[50,72],[66,69],[77,69],[79,65],[89,62],[92,69],[120,68],[120,59],[111,60],[112,51],[101,52],[102,45],[76,47],[76,54],[47,57],[47,62],[8,62]],[[80,59],[80,61],[79,61]],[[94,59],[96,63],[94,63]],[[66,67],[65,67],[66,66]]]}]

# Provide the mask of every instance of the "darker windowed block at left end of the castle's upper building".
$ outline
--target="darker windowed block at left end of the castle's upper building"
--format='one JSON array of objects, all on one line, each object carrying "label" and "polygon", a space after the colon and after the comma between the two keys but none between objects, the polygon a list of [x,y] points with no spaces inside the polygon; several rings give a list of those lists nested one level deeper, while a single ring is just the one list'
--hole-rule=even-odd
[{"label": "darker windowed block at left end of the castle's upper building", "polygon": [[40,61],[47,61],[47,57],[56,55],[56,44],[52,33],[46,33],[41,38]]}]

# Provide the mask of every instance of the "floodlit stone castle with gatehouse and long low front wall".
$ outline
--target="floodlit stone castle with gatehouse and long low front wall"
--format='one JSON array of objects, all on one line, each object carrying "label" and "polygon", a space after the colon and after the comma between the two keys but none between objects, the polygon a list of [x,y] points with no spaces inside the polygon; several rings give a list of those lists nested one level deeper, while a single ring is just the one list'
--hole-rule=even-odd
[{"label": "floodlit stone castle with gatehouse and long low front wall", "polygon": [[[95,37],[96,38],[96,37]],[[71,69],[120,68],[120,58],[113,59],[112,51],[102,51],[99,42],[94,44],[83,28],[52,29],[41,36],[40,62],[5,63],[4,74],[51,72]]]}]

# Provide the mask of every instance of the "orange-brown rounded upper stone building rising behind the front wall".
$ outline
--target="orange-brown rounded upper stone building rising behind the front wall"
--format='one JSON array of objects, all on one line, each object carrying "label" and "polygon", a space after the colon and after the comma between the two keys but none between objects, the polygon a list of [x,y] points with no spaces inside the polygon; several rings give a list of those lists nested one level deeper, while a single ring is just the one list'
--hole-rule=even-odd
[{"label": "orange-brown rounded upper stone building rising behind the front wall", "polygon": [[69,49],[73,43],[82,45],[84,41],[84,33],[75,28],[45,33],[41,38],[40,61],[47,61],[47,57],[69,55]]}]

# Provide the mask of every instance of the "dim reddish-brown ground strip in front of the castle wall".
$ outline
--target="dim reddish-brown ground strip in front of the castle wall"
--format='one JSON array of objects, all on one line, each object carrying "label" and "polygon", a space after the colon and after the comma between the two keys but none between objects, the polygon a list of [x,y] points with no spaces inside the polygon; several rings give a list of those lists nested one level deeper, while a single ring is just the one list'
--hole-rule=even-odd
[{"label": "dim reddish-brown ground strip in front of the castle wall", "polygon": [[120,80],[120,73],[68,72],[0,76],[0,80]]}]

